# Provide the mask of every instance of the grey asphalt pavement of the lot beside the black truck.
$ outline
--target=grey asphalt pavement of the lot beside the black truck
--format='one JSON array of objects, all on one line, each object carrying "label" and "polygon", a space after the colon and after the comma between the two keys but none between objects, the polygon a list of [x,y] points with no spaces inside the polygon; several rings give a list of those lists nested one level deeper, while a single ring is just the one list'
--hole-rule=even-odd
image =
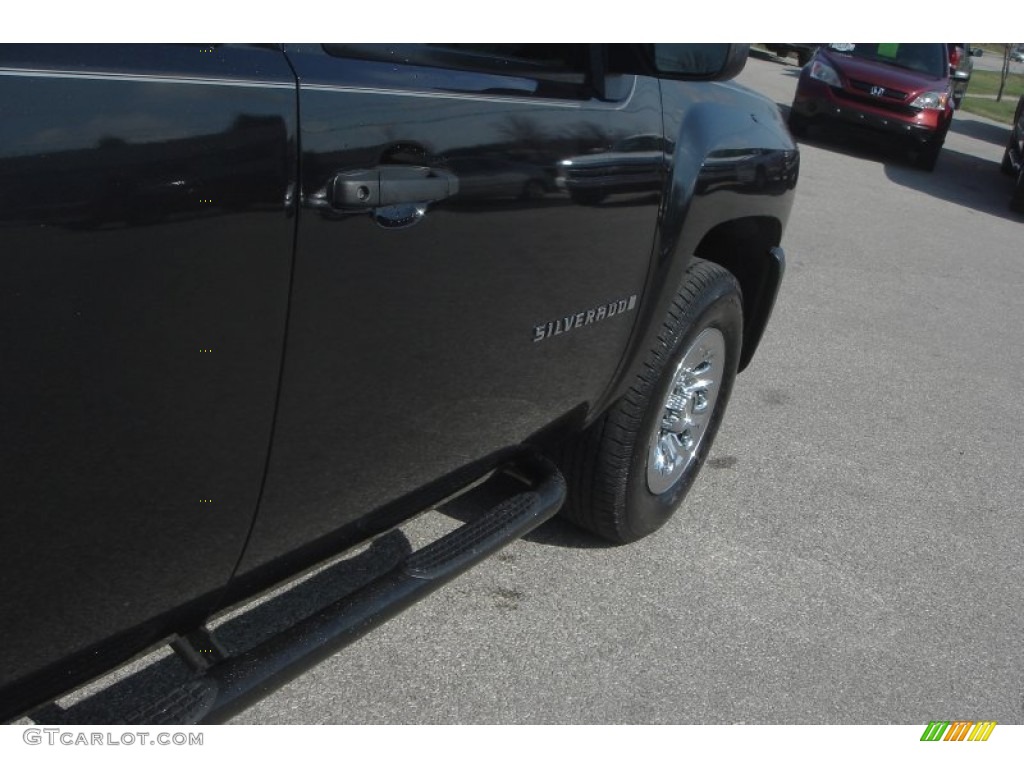
[{"label": "grey asphalt pavement of the lot beside the black truck", "polygon": [[[739,82],[785,108],[797,72]],[[1006,135],[958,114],[934,173],[812,135],[774,317],[676,517],[628,547],[549,523],[236,722],[1024,722]]]}]

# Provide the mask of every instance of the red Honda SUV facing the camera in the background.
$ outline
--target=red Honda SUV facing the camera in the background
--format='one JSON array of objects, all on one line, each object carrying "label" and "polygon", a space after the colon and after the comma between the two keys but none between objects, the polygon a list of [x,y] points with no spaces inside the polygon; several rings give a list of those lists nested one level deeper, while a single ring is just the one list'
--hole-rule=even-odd
[{"label": "red Honda SUV facing the camera in the background", "polygon": [[828,43],[800,73],[790,130],[842,122],[900,137],[931,171],[953,117],[946,43]]}]

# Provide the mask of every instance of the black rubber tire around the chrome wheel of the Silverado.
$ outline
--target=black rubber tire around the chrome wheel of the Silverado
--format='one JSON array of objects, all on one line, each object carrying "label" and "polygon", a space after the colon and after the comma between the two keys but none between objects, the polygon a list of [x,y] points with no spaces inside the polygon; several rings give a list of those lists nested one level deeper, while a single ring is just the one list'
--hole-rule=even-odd
[{"label": "black rubber tire around the chrome wheel of the Silverado", "polygon": [[[568,482],[565,517],[616,544],[641,539],[672,517],[700,471],[728,404],[742,343],[742,315],[735,278],[717,264],[695,259],[642,373],[596,423],[563,446],[559,464]],[[709,356],[706,350],[713,352]],[[699,384],[690,387],[697,387],[692,397],[681,397],[684,384],[679,377],[689,374],[684,362],[706,358],[711,360],[707,370],[705,362],[695,369],[701,380],[713,382],[705,392],[707,410],[701,414]],[[679,406],[681,410],[674,410]],[[684,413],[686,418],[679,418]],[[667,471],[652,457],[664,458],[659,449],[666,442],[679,445],[689,436],[685,428],[678,434],[675,430],[690,415],[705,426],[679,455],[680,464]],[[668,487],[653,489],[651,475],[655,484],[669,482]]]}]

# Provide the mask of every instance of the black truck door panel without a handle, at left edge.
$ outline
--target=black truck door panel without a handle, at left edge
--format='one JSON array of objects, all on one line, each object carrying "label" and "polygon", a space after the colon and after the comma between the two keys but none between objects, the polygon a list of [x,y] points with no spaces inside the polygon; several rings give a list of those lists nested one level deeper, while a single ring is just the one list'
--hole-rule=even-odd
[{"label": "black truck door panel without a handle, at left edge", "polygon": [[237,564],[280,377],[296,138],[280,50],[0,46],[6,706],[187,626]]}]

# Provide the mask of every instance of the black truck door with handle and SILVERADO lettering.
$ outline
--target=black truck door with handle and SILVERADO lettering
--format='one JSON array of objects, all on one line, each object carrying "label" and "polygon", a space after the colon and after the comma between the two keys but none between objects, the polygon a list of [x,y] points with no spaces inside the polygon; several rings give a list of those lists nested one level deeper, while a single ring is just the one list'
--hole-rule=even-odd
[{"label": "black truck door with handle and SILVERADO lettering", "polygon": [[242,571],[597,399],[665,173],[657,83],[588,45],[300,46],[301,213]]}]

